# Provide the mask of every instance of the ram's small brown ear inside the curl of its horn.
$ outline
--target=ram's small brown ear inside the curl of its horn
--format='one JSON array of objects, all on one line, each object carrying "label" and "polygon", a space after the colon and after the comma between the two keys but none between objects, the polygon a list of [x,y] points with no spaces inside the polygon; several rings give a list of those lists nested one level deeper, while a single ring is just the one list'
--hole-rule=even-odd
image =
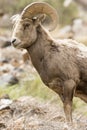
[{"label": "ram's small brown ear inside the curl of its horn", "polygon": [[38,15],[36,17],[33,17],[33,19],[32,19],[33,23],[35,25],[39,25],[40,23],[42,23],[45,20],[45,17],[46,17],[45,14],[40,14],[40,15]]}]

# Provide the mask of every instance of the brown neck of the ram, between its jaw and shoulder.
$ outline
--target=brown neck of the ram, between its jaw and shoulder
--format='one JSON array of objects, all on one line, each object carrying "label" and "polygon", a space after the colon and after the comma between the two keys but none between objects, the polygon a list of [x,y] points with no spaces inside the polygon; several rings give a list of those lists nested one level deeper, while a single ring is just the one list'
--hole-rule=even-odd
[{"label": "brown neck of the ram, between its jaw and shoulder", "polygon": [[31,61],[39,73],[42,69],[41,62],[48,53],[51,42],[52,38],[48,35],[48,32],[39,26],[37,30],[37,40],[28,48]]}]

